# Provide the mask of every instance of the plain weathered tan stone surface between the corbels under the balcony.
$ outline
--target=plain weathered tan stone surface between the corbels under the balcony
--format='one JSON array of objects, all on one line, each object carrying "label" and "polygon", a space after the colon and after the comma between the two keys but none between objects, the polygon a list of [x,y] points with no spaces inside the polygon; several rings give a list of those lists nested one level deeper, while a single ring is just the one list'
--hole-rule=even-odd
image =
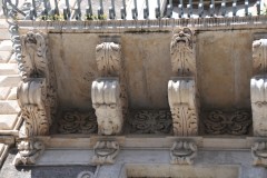
[{"label": "plain weathered tan stone surface between the corbels under the balcony", "polygon": [[[249,109],[255,32],[266,30],[196,30],[197,81],[204,109]],[[101,33],[50,33],[62,108],[91,108],[91,82],[98,75],[96,46]],[[129,108],[168,108],[171,31],[106,33],[119,36]]]}]

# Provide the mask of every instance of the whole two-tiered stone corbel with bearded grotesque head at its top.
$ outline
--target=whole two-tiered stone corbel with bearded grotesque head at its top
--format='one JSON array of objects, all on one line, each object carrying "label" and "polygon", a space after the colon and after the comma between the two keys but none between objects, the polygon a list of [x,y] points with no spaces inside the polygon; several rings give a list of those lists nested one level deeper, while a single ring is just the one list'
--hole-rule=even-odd
[{"label": "whole two-tiered stone corbel with bearded grotesque head at its top", "polygon": [[170,43],[171,68],[175,77],[168,82],[168,101],[175,136],[198,135],[196,57],[192,31],[177,29]]}]

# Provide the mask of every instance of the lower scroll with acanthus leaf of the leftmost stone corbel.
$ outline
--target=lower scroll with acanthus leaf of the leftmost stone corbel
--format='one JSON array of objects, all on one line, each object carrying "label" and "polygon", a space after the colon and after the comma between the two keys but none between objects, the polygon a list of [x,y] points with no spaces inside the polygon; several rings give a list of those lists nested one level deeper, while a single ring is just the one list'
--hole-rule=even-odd
[{"label": "lower scroll with acanthus leaf of the leftmost stone corbel", "polygon": [[46,136],[51,125],[50,110],[46,107],[46,79],[34,78],[18,88],[18,101],[24,120],[24,136]]}]

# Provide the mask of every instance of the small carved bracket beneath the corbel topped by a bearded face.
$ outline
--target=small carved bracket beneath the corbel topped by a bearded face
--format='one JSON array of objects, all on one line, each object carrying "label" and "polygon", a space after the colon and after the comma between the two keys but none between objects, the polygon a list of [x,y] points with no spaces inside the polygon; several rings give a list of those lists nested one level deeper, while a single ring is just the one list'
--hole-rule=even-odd
[{"label": "small carved bracket beneath the corbel topped by a bearded face", "polygon": [[170,164],[192,165],[197,156],[197,146],[190,141],[176,141],[170,148]]}]

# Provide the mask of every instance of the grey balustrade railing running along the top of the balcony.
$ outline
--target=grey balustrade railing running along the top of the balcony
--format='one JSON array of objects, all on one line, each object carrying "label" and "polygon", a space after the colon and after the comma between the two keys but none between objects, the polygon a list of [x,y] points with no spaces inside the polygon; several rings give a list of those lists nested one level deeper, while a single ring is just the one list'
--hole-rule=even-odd
[{"label": "grey balustrade railing running along the top of the balcony", "polygon": [[[21,20],[212,18],[266,14],[261,0],[2,0]],[[178,2],[178,3],[177,3]],[[162,6],[164,4],[164,6]]]}]

